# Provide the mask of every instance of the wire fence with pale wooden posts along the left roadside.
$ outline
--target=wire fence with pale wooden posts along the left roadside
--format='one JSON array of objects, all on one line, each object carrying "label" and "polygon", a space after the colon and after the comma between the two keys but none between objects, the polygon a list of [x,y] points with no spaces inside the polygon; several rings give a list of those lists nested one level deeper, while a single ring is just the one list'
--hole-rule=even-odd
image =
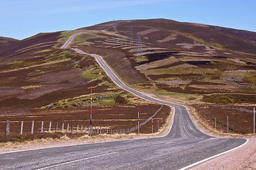
[{"label": "wire fence with pale wooden posts along the left roadside", "polygon": [[[163,106],[161,106],[162,108]],[[154,115],[151,115],[151,117],[147,118],[146,120],[142,121],[142,123],[139,123],[139,127],[137,123],[134,123],[134,126],[129,128],[108,128],[108,127],[102,127],[94,125],[90,129],[90,126],[88,123],[85,123],[85,121],[78,120],[74,122],[70,121],[38,121],[38,120],[29,120],[29,121],[14,121],[14,120],[6,120],[0,122],[0,135],[38,135],[38,134],[45,134],[45,133],[63,133],[63,134],[83,134],[83,135],[90,135],[90,131],[92,135],[101,135],[101,134],[109,134],[109,135],[115,135],[115,134],[129,134],[129,133],[139,133],[139,128],[148,125],[151,128],[150,120],[154,120],[154,117],[156,117],[157,113],[161,111],[161,108],[159,108]],[[162,121],[159,122],[159,118],[155,118],[157,123],[155,123],[154,130],[152,132],[159,131],[159,123],[162,123]],[[140,121],[138,119],[138,121]],[[150,124],[150,125],[149,125]],[[149,131],[149,130],[148,130]]]}]

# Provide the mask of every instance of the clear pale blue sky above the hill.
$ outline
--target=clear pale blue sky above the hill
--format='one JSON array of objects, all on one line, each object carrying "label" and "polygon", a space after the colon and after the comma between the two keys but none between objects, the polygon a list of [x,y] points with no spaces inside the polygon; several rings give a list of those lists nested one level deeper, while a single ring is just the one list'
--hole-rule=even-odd
[{"label": "clear pale blue sky above the hill", "polygon": [[167,18],[256,32],[256,0],[0,0],[0,36],[28,38],[113,20]]}]

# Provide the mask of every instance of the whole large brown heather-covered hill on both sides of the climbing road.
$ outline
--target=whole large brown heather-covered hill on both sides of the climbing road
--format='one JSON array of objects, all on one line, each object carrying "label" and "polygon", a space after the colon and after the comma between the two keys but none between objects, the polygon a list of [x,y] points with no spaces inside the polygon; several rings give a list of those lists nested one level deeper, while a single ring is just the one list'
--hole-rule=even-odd
[{"label": "whole large brown heather-covered hill on both sides of the climbing road", "polygon": [[250,132],[250,106],[256,102],[256,33],[166,19],[40,33],[2,47],[1,113],[33,113],[34,108],[75,113],[89,106],[90,86],[97,87],[95,106],[134,107],[139,99],[115,86],[92,57],[60,49],[74,33],[81,34],[70,47],[102,55],[129,86],[196,108],[211,126],[217,117],[220,129],[235,112],[233,132]]}]

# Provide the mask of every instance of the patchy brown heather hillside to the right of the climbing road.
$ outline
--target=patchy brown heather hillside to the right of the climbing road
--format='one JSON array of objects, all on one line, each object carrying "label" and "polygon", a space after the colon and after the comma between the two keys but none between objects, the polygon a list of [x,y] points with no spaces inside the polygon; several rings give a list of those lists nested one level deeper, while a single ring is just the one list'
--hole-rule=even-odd
[{"label": "patchy brown heather hillside to the right of the climbing road", "polygon": [[72,46],[105,56],[125,82],[134,77],[123,74],[129,72],[123,67],[127,60],[107,51],[129,52],[132,66],[150,81],[137,82],[134,88],[193,106],[211,127],[216,118],[218,130],[226,130],[229,116],[230,132],[252,132],[256,33],[165,19],[114,21],[80,31],[85,30],[97,37],[82,34]]}]

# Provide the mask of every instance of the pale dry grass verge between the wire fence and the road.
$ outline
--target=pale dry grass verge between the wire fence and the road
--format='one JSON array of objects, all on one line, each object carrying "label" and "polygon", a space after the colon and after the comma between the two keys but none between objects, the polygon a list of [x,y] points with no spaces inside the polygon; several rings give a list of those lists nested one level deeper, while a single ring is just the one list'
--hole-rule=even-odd
[{"label": "pale dry grass verge between the wire fence and the road", "polygon": [[[160,130],[158,132],[155,132],[154,134],[143,134],[137,135],[136,133],[130,133],[130,134],[101,134],[101,135],[95,135],[92,137],[89,137],[88,135],[82,135],[82,136],[70,136],[70,135],[61,135],[58,138],[53,137],[46,137],[41,139],[35,139],[35,140],[25,140],[23,142],[1,142],[0,148],[9,148],[11,150],[13,149],[19,149],[22,148],[23,145],[26,145],[28,149],[36,149],[40,147],[53,147],[53,146],[63,146],[63,145],[74,145],[74,144],[85,144],[85,143],[96,143],[96,142],[110,142],[110,141],[116,141],[116,140],[132,140],[132,139],[141,139],[141,138],[147,138],[147,137],[159,137],[162,135],[165,135],[173,122],[174,118],[174,109],[171,108],[170,114],[168,118],[166,118],[166,122],[164,125],[161,126]],[[54,145],[53,145],[54,143]],[[29,147],[32,146],[32,147]]]}]

